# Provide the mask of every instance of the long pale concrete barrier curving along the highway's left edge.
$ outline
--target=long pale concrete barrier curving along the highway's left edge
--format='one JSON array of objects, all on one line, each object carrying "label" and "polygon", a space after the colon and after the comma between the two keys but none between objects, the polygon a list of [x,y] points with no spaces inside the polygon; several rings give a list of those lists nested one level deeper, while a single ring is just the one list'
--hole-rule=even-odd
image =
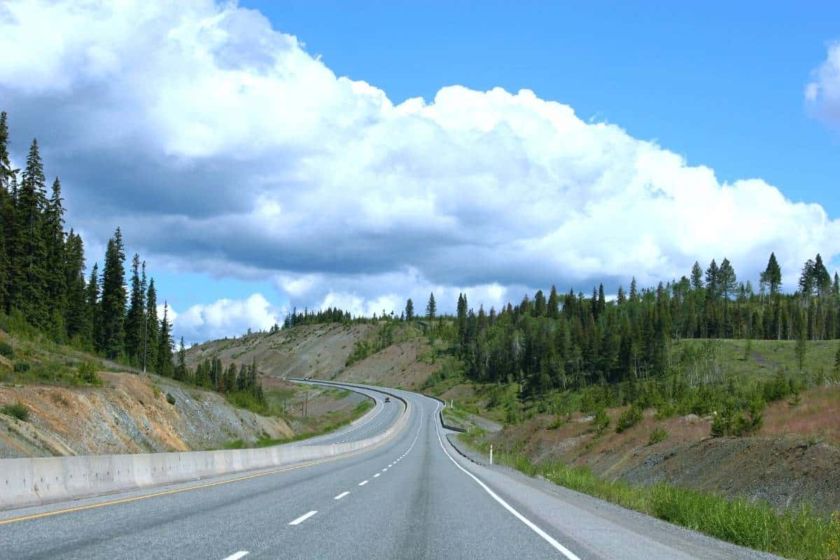
[{"label": "long pale concrete barrier curving along the highway's left edge", "polygon": [[[401,399],[402,400],[402,399]],[[385,432],[357,442],[186,453],[0,459],[0,510],[76,500],[161,484],[175,484],[323,458],[341,458],[378,447],[406,426],[411,405]]]}]

